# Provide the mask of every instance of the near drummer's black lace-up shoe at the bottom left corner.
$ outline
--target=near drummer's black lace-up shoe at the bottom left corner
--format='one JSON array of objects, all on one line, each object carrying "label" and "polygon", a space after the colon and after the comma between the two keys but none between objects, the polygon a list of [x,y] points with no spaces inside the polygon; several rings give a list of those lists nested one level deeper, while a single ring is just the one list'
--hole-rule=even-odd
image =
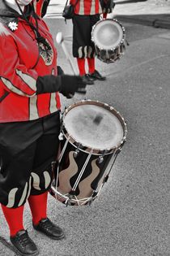
[{"label": "near drummer's black lace-up shoe at the bottom left corner", "polygon": [[39,254],[35,243],[28,236],[28,232],[26,230],[20,230],[15,236],[11,236],[10,240],[19,254],[23,256],[35,256]]}]

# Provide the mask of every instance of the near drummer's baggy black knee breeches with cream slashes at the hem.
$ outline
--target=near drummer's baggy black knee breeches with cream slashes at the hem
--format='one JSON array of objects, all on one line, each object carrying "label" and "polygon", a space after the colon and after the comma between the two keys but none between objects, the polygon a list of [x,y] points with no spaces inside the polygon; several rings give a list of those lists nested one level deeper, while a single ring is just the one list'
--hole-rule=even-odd
[{"label": "near drummer's baggy black knee breeches with cream slashes at the hem", "polygon": [[22,206],[30,194],[49,190],[57,158],[59,111],[28,122],[0,124],[0,202]]}]

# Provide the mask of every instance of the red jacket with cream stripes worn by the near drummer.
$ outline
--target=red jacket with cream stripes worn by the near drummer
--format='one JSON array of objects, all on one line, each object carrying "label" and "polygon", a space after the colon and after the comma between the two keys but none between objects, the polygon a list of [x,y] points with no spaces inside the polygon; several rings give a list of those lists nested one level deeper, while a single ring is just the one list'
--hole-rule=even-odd
[{"label": "red jacket with cream stripes worn by the near drummer", "polygon": [[38,119],[60,109],[58,93],[36,94],[38,76],[57,75],[57,50],[49,29],[43,20],[37,20],[39,32],[50,46],[47,54],[43,45],[38,48],[27,22],[17,20],[18,24],[11,23],[11,28],[17,26],[13,31],[0,22],[1,123]]}]

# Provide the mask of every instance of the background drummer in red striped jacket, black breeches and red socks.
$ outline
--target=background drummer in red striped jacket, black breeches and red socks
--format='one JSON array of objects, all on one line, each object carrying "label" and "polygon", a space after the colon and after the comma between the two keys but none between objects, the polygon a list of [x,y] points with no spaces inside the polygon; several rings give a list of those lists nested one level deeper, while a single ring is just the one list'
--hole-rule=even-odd
[{"label": "background drummer in red striped jacket, black breeches and red socks", "polygon": [[[70,0],[74,6],[73,18],[73,56],[77,59],[79,75],[88,85],[93,85],[94,80],[105,80],[95,67],[95,46],[91,42],[91,28],[100,20],[103,13],[107,16],[108,6],[112,0],[103,0],[102,7],[100,0]],[[88,73],[85,69],[85,60],[87,59]]]}]

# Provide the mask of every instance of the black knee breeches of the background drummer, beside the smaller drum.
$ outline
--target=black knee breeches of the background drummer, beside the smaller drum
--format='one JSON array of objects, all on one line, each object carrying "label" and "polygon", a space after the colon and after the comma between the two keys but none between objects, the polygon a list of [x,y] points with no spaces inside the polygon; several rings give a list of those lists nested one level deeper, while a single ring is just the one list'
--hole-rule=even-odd
[{"label": "black knee breeches of the background drummer, beside the smaller drum", "polygon": [[91,41],[91,30],[100,15],[74,15],[73,18],[73,56],[75,58],[94,58],[95,46]]}]

